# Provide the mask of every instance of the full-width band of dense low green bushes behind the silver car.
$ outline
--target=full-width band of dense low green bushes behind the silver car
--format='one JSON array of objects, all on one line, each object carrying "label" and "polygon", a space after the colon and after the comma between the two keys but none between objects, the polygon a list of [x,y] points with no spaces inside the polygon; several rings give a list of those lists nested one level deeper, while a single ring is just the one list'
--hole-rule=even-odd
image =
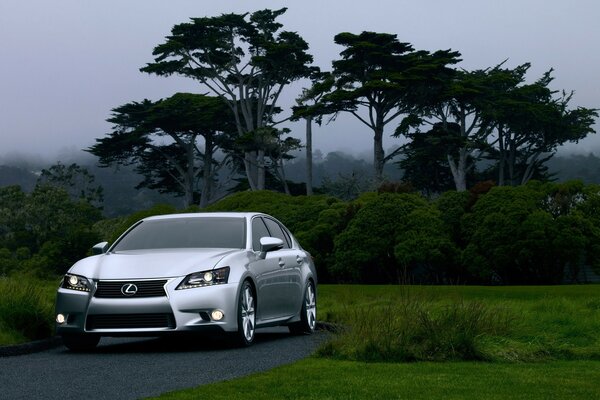
[{"label": "full-width band of dense low green bushes behind the silver car", "polygon": [[581,181],[475,185],[431,200],[386,183],[352,201],[273,191],[232,194],[204,208],[157,205],[102,218],[84,198],[38,185],[0,188],[0,275],[53,276],[156,214],[259,211],[311,252],[322,282],[557,284],[600,272],[600,186]]}]

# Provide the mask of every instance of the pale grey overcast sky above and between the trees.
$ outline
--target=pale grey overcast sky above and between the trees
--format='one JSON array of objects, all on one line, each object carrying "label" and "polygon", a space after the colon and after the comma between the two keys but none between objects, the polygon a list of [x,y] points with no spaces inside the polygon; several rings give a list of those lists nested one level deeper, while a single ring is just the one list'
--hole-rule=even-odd
[{"label": "pale grey overcast sky above and between the trees", "polygon": [[[288,7],[280,21],[329,69],[339,32],[395,33],[417,49],[458,50],[461,67],[531,62],[529,79],[555,69],[555,89],[572,105],[600,107],[600,2],[597,0],[1,0],[0,157],[56,157],[110,132],[110,110],[175,92],[205,92],[190,79],[139,72],[173,25],[190,17]],[[291,87],[284,105],[301,86]],[[392,124],[393,125],[393,124]],[[302,137],[303,126],[291,125]],[[390,131],[393,130],[390,126]],[[598,124],[596,125],[598,129]],[[371,133],[351,117],[315,130],[323,152],[370,152]],[[600,150],[600,136],[568,148]],[[385,146],[399,143],[386,139]]]}]

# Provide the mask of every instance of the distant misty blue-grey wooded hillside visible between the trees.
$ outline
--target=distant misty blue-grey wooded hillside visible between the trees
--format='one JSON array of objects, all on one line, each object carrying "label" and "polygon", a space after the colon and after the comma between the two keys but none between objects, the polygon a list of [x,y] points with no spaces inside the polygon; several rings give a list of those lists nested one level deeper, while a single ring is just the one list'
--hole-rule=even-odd
[{"label": "distant misty blue-grey wooded hillside visible between the trees", "polygon": [[[322,154],[317,152],[314,160],[314,190],[320,194],[352,200],[365,191],[373,189],[372,163],[356,155],[343,152]],[[80,161],[80,168],[87,170],[95,178],[95,187],[103,189],[102,213],[106,217],[117,217],[132,214],[147,209],[154,204],[171,204],[181,207],[180,198],[156,190],[138,186],[143,179],[131,167],[118,169],[100,168]],[[7,165],[0,165],[0,187],[18,185],[23,191],[34,190],[42,170],[50,170],[52,165],[28,164],[25,160],[13,160]],[[56,165],[56,164],[54,164]],[[548,179],[555,182],[581,180],[586,184],[600,184],[600,157],[593,153],[587,155],[557,155],[546,163]],[[63,165],[68,168],[68,165]],[[302,154],[286,163],[286,176],[292,194],[304,194],[306,191],[305,159]],[[388,181],[402,181],[403,171],[398,165],[387,165],[384,177]],[[80,181],[81,182],[81,181]],[[74,182],[72,182],[74,183]],[[78,187],[81,191],[82,187]],[[220,197],[228,194],[227,190],[220,192]]]}]

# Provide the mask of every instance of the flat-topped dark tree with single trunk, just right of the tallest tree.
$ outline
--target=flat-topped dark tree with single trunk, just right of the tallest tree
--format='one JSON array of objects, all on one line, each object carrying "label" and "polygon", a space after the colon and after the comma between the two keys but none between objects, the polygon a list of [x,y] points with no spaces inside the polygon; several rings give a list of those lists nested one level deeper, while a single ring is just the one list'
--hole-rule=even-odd
[{"label": "flat-topped dark tree with single trunk, just right of the tallest tree", "polygon": [[334,41],[345,49],[333,61],[335,84],[323,102],[327,109],[351,113],[373,132],[374,177],[381,181],[384,164],[397,154],[385,154],[385,126],[436,98],[460,54],[416,51],[387,33],[344,32]]}]

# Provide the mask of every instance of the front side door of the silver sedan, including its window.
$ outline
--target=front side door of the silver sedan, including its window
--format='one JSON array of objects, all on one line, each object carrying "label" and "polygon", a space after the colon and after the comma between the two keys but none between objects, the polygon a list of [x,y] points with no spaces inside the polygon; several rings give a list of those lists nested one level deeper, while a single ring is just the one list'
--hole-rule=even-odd
[{"label": "front side door of the silver sedan, including its window", "polygon": [[281,315],[279,311],[281,301],[281,290],[278,283],[281,280],[278,251],[268,252],[265,258],[258,257],[260,252],[260,238],[271,236],[263,219],[254,217],[252,219],[252,249],[257,258],[251,263],[250,268],[256,281],[257,296],[257,318],[266,321]]}]

